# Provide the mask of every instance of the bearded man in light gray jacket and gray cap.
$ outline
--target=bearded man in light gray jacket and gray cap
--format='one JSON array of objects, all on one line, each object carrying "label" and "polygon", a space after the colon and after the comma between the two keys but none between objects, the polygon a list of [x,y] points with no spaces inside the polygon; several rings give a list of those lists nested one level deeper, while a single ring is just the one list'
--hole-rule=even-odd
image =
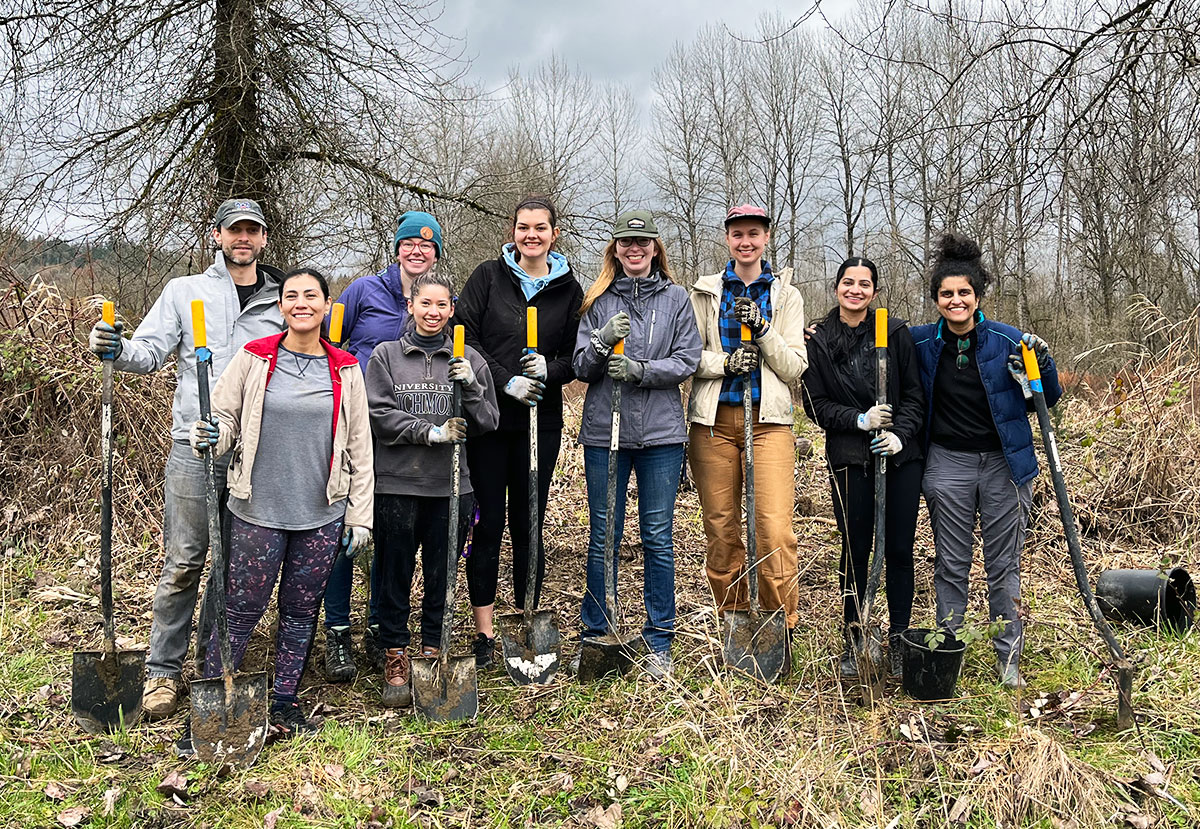
[{"label": "bearded man in light gray jacket and gray cap", "polygon": [[[203,274],[170,280],[131,340],[122,338],[121,323],[97,323],[88,338],[91,352],[112,358],[120,371],[149,374],[162,368],[172,354],[176,360],[162,522],[166,559],[154,595],[142,699],[148,717],[169,716],[179,707],[184,655],[209,547],[204,463],[192,455],[187,443],[188,429],[200,416],[192,300],[204,300],[212,384],[242,346],[286,328],[277,305],[282,272],[258,262],[266,247],[266,220],[258,203],[222,203],[214,221],[212,242],[218,248],[212,265]],[[221,491],[228,465],[229,455],[216,462]],[[202,627],[203,615],[202,611]]]}]

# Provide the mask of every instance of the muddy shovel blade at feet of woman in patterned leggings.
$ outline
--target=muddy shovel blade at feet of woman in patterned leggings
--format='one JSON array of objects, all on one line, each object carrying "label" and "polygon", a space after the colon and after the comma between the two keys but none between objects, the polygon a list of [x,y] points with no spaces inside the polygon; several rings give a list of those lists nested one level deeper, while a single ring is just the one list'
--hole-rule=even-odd
[{"label": "muddy shovel blade at feet of woman in patterned leggings", "polygon": [[246,767],[266,741],[266,674],[192,681],[192,745],[205,763]]}]

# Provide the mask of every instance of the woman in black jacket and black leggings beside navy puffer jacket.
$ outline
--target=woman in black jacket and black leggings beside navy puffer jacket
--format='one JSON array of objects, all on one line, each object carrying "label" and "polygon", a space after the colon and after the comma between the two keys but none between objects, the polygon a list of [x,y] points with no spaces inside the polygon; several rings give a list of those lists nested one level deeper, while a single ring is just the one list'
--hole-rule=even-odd
[{"label": "woman in black jacket and black leggings beside navy puffer jacket", "polygon": [[802,377],[804,410],[826,431],[833,511],[841,530],[844,677],[858,674],[851,625],[866,589],[875,530],[875,455],[888,457],[887,595],[892,674],[900,673],[899,636],[912,617],[912,546],[924,469],[925,394],[912,335],[902,319],[888,320],[888,403],[875,403],[875,322],[870,304],[878,271],[870,259],[841,263],[838,307],[812,330],[809,367]]}]

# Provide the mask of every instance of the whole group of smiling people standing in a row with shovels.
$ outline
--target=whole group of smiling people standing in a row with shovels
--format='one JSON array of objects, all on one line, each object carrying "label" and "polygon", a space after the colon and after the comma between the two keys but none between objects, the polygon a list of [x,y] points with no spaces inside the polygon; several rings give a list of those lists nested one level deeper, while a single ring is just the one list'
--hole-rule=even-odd
[{"label": "whole group of smiling people standing in a row with shovels", "polygon": [[[847,259],[835,278],[836,306],[805,328],[791,269],[766,258],[770,216],[739,205],[725,218],[724,270],[685,289],[668,264],[654,217],[620,215],[600,271],[584,292],[554,250],[554,206],[521,202],[512,239],[480,264],[455,295],[437,271],[442,228],[421,211],[401,216],[395,262],[353,281],[340,343],[328,338],[332,306],[325,277],[281,272],[259,262],[268,227],[251,199],[217,210],[214,264],[167,283],[131,338],[120,323],[97,323],[91,350],[116,368],[149,373],[178,360],[173,445],[166,469],[166,560],[155,591],[148,716],[178,708],[200,572],[209,546],[204,452],[216,458],[227,505],[228,630],[235,665],[278,582],[271,725],[308,728],[296,691],[325,608],[325,671],[352,679],[353,561],[373,535],[364,645],[382,668],[382,703],[412,703],[409,659],[438,654],[446,613],[450,498],[460,498],[457,546],[470,537],[466,575],[479,668],[498,660],[493,611],[505,527],[512,549],[514,603],[539,602],[545,573],[541,527],[530,525],[530,408],[538,428],[538,521],[563,438],[563,386],[587,384],[577,435],[583,447],[590,534],[583,639],[610,632],[604,546],[612,521],[619,545],[630,474],[637,476],[644,553],[643,669],[673,671],[676,627],[673,518],[684,456],[700,495],[706,571],[718,611],[746,609],[743,542],[743,397],[751,400],[756,558],[761,606],[797,625],[798,545],[793,530],[794,443],[800,390],[808,415],[826,431],[834,513],[842,536],[840,585],[846,627],[844,674],[857,673],[858,619],[874,517],[874,458],[888,464],[887,595],[895,637],[912,612],[919,495],[925,494],[937,551],[937,620],[962,624],[977,516],[988,573],[998,678],[1021,684],[1020,552],[1031,480],[1037,474],[1026,412],[1024,341],[1038,355],[1049,403],[1060,396],[1046,344],[991,322],[979,310],[989,274],[978,246],[947,235],[935,257],[930,295],[941,319],[908,329],[892,319],[887,403],[877,404],[869,308],[880,275]],[[205,300],[212,353],[211,420],[199,416],[196,332],[188,306]],[[536,308],[536,347],[527,319]],[[452,326],[466,330],[456,355]],[[746,338],[746,334],[749,337]],[[690,380],[686,410],[683,386]],[[607,515],[613,384],[622,384],[616,512]],[[455,402],[461,400],[461,408]],[[571,435],[574,437],[574,435]],[[466,445],[457,487],[454,444]],[[420,645],[409,617],[418,555],[424,576]],[[536,577],[527,595],[523,573]],[[616,566],[616,561],[613,563]],[[211,609],[199,615],[196,665],[221,672]],[[788,642],[791,636],[788,636]],[[788,660],[790,662],[790,660]]]}]

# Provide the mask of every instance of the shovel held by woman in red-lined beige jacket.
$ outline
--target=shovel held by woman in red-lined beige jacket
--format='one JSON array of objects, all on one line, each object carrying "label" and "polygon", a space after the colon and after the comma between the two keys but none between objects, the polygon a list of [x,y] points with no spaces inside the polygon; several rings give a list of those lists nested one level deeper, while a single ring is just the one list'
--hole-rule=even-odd
[{"label": "shovel held by woman in red-lined beige jacket", "polygon": [[[212,352],[204,330],[204,300],[192,300],[192,340],[196,344],[196,379],[200,394],[200,417],[212,422],[209,372]],[[224,546],[221,539],[221,505],[217,503],[212,449],[204,450],[204,499],[209,507],[208,593],[221,639],[221,677],[192,681],[192,745],[196,756],[216,765],[250,765],[266,740],[266,674],[234,677],[229,647],[229,617],[224,595]]]}]

